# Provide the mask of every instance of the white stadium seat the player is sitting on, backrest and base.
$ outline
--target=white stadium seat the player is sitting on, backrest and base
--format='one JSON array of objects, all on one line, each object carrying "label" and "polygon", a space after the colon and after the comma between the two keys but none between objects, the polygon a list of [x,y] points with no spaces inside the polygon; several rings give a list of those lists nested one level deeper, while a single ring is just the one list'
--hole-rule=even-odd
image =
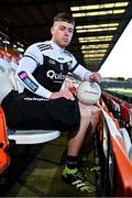
[{"label": "white stadium seat the player is sitting on, backrest and base", "polygon": [[[13,75],[13,73],[12,73]],[[12,82],[12,78],[8,76],[8,73],[4,68],[0,69],[0,103],[4,96],[11,90],[15,90],[14,81]],[[16,144],[38,144],[52,141],[59,136],[59,131],[54,130],[15,130],[8,129],[8,139],[14,140]]]}]

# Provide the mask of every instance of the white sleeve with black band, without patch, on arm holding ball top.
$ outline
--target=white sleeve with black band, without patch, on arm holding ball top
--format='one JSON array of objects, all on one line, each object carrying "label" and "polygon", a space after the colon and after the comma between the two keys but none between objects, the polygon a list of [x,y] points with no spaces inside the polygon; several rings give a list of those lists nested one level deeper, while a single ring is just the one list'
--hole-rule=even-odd
[{"label": "white sleeve with black band, without patch, on arm holding ball top", "polygon": [[79,76],[81,80],[88,80],[88,77],[91,74],[91,72],[86,69],[82,65],[80,65],[74,56],[73,56],[72,72],[73,74]]}]

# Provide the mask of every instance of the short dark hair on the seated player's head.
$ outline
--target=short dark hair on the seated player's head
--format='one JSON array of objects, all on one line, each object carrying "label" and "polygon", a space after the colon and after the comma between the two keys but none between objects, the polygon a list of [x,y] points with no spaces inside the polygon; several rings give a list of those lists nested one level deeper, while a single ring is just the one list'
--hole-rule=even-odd
[{"label": "short dark hair on the seated player's head", "polygon": [[73,25],[75,25],[74,18],[69,13],[66,13],[66,12],[61,12],[57,15],[55,15],[54,22],[56,22],[56,21],[65,21],[65,22],[68,22],[68,23],[72,23]]}]

